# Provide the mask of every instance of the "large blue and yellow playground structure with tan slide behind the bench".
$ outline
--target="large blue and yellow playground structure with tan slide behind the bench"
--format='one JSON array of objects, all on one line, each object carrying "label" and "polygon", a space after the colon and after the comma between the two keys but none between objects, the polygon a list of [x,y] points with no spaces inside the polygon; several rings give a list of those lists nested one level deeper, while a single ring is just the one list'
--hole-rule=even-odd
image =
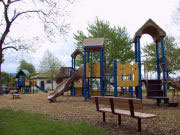
[{"label": "large blue and yellow playground structure with tan slide behind the bench", "polygon": [[[142,80],[141,78],[141,45],[140,38],[143,34],[149,34],[152,36],[154,42],[156,43],[156,60],[157,60],[157,80]],[[126,87],[129,89],[130,97],[135,97],[142,100],[142,82],[146,85],[147,98],[156,99],[157,104],[160,103],[161,99],[168,102],[169,98],[167,97],[166,87],[167,84],[173,86],[174,88],[179,88],[179,83],[175,84],[168,82],[167,79],[167,65],[165,50],[164,50],[164,37],[166,33],[162,30],[154,21],[149,19],[136,33],[134,36],[134,47],[135,47],[135,62],[134,63],[125,63],[121,64],[114,60],[114,72],[112,73],[114,82],[109,84],[114,85],[114,91],[111,92],[111,96],[118,96],[118,89],[121,87]],[[159,56],[159,42],[161,43],[161,61]],[[62,95],[63,92],[67,91],[68,88],[71,88],[71,95],[83,95],[84,100],[86,101],[90,96],[105,96],[106,95],[106,78],[107,74],[105,71],[105,61],[104,61],[104,39],[95,38],[95,39],[85,39],[83,42],[84,54],[76,49],[72,57],[72,77],[63,81],[58,85],[55,92],[48,96],[48,99],[55,99],[59,95]],[[76,56],[81,54],[83,57],[84,65],[84,74],[83,77],[78,79],[76,76]],[[167,63],[167,65],[166,65]],[[160,69],[162,69],[163,79],[160,78]],[[82,70],[82,67],[81,67]],[[82,74],[81,74],[82,76]],[[57,77],[58,78],[58,77]],[[76,79],[74,79],[76,78]],[[81,81],[82,79],[82,81]],[[70,80],[70,81],[69,81]],[[73,81],[75,80],[75,81]],[[96,80],[97,90],[94,90],[94,82]],[[172,85],[173,84],[173,85]],[[70,86],[71,85],[71,86]],[[175,85],[175,86],[174,86]],[[67,87],[68,86],[68,87]],[[177,87],[178,86],[178,87]],[[163,89],[162,89],[163,87]],[[59,94],[58,94],[59,93]]]}]

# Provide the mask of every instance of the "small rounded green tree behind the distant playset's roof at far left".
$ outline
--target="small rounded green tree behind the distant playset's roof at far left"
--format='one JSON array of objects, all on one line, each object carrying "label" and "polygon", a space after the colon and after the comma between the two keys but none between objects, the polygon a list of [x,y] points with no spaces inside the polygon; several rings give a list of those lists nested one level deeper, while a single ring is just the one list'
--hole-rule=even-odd
[{"label": "small rounded green tree behind the distant playset's roof at far left", "polygon": [[31,63],[28,63],[27,61],[25,60],[21,60],[20,61],[20,65],[19,67],[17,68],[18,70],[20,69],[25,69],[27,70],[30,74],[36,72],[35,68],[34,68],[34,65],[31,64]]}]

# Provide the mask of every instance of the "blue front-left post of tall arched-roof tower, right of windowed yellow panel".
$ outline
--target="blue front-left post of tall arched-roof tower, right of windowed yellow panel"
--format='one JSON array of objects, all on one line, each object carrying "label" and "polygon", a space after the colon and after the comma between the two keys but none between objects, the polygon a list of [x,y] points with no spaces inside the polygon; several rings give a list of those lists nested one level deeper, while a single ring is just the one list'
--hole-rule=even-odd
[{"label": "blue front-left post of tall arched-roof tower, right of windowed yellow panel", "polygon": [[142,82],[141,82],[141,48],[140,48],[140,37],[137,38],[138,45],[138,69],[139,69],[139,89],[138,98],[142,100]]}]

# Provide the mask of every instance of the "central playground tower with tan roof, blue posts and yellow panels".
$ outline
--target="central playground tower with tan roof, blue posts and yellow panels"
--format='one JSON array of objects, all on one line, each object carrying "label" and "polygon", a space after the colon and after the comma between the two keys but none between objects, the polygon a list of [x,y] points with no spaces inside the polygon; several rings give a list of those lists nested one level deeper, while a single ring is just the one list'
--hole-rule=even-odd
[{"label": "central playground tower with tan roof, blue posts and yellow panels", "polygon": [[[83,42],[84,49],[84,78],[83,78],[83,94],[84,100],[90,97],[90,86],[91,89],[93,87],[92,79],[99,79],[100,82],[100,90],[96,92],[96,95],[104,96],[104,38],[96,38],[96,39],[85,39]],[[92,52],[99,52],[99,55],[95,55],[94,57],[96,61],[93,63]],[[90,60],[91,55],[91,60]],[[98,58],[99,57],[99,58]],[[90,85],[91,84],[91,85]],[[92,91],[92,90],[91,90]],[[95,95],[95,93],[92,93]]]}]

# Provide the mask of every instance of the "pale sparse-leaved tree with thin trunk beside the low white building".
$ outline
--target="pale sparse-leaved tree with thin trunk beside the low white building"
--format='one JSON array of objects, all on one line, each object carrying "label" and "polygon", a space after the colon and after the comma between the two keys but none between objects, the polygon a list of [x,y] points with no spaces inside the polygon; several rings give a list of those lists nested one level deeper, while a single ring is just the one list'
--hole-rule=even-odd
[{"label": "pale sparse-leaved tree with thin trunk beside the low white building", "polygon": [[47,73],[50,76],[52,81],[52,89],[53,89],[53,75],[57,73],[62,66],[59,59],[50,51],[46,51],[44,53],[43,59],[40,62],[40,72]]}]

